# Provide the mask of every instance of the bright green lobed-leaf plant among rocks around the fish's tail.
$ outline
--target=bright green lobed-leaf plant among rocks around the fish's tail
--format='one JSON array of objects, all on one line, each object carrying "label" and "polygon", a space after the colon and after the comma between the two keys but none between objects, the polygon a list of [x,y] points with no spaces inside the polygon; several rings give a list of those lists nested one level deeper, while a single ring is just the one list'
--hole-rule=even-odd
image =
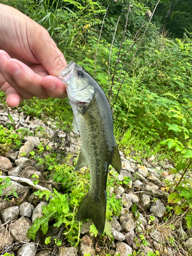
[{"label": "bright green lobed-leaf plant among rocks around the fish's tail", "polygon": [[[69,159],[68,157],[66,161]],[[65,223],[65,230],[63,234],[72,246],[77,246],[80,241],[80,226],[81,224],[76,221],[76,206],[82,201],[84,193],[88,191],[89,174],[85,175],[83,169],[80,172],[73,172],[73,167],[67,163],[54,166],[53,181],[62,183],[63,191],[65,194],[59,194],[55,189],[53,193],[49,191],[37,191],[35,195],[39,198],[46,196],[46,200],[49,200],[48,206],[42,206],[42,213],[44,217],[36,219],[33,226],[28,230],[29,238],[35,239],[35,234],[40,228],[44,234],[48,231],[48,221],[51,217],[54,217],[55,224],[53,226],[59,227],[62,223]],[[109,189],[108,189],[109,190]],[[120,215],[122,209],[121,199],[116,200],[115,195],[110,197],[110,192],[107,192],[108,201],[106,204],[106,225],[105,234],[111,236],[111,228],[109,220],[112,216]],[[92,225],[93,233],[97,234],[97,230]],[[47,241],[48,242],[48,241]]]}]

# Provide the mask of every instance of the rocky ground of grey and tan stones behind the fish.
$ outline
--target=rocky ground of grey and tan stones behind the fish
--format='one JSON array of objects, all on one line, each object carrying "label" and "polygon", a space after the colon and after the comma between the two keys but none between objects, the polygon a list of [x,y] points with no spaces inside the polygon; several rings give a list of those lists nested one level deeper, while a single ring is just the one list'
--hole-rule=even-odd
[{"label": "rocky ground of grey and tan stones behind the fish", "polygon": [[[12,185],[3,189],[0,198],[0,255],[9,252],[17,256],[83,256],[86,253],[93,256],[103,255],[103,247],[106,247],[106,253],[111,255],[120,253],[121,256],[134,255],[136,252],[135,255],[155,256],[155,251],[164,256],[187,255],[187,251],[192,247],[192,238],[190,238],[192,229],[186,228],[183,216],[173,216],[172,219],[169,219],[168,210],[166,210],[168,193],[164,187],[175,180],[173,174],[169,175],[169,169],[173,168],[173,164],[166,159],[161,162],[157,161],[153,155],[149,159],[135,161],[132,158],[134,152],[132,152],[132,157],[126,157],[123,152],[120,152],[122,170],[116,176],[119,181],[130,177],[131,182],[128,185],[122,184],[110,189],[111,195],[115,193],[116,199],[122,198],[121,215],[113,216],[113,220],[111,220],[114,241],[109,242],[109,238],[102,240],[99,237],[91,236],[89,233],[90,221],[84,222],[82,225],[81,242],[77,248],[69,247],[67,243],[62,243],[60,247],[50,248],[43,242],[30,241],[27,237],[27,230],[36,218],[42,216],[41,206],[47,205],[45,200],[40,200],[33,194],[35,187],[31,182],[34,178],[31,176],[37,174],[39,180],[44,180],[45,167],[37,165],[32,160],[30,152],[35,152],[40,142],[47,145],[55,136],[56,126],[55,120],[43,122],[19,112],[19,109],[5,108],[2,104],[0,104],[0,125],[7,127],[7,122],[12,125],[8,117],[9,114],[14,122],[12,133],[15,134],[18,129],[22,128],[28,129],[30,136],[25,136],[19,151],[9,150],[4,156],[1,156],[0,153],[1,178],[12,177]],[[35,133],[37,127],[44,127],[45,133],[41,131]],[[57,137],[65,139],[66,134],[59,131]],[[69,141],[67,145],[70,145]],[[54,142],[50,142],[49,146],[56,145]],[[71,145],[67,147],[67,151],[74,154],[79,148],[80,138],[74,137],[74,134],[71,133]],[[73,164],[73,159],[71,164]],[[113,169],[110,170],[110,173],[111,176],[115,176]],[[5,184],[5,181],[2,184]],[[40,189],[45,188],[52,191],[54,186],[59,190],[59,186],[51,181],[39,182],[38,185],[41,186]],[[18,195],[18,199],[4,200],[13,189]],[[137,204],[137,211],[133,212],[135,204]],[[166,223],[164,217],[168,218]],[[62,232],[60,235],[62,237]],[[40,241],[42,240],[41,238]]]}]

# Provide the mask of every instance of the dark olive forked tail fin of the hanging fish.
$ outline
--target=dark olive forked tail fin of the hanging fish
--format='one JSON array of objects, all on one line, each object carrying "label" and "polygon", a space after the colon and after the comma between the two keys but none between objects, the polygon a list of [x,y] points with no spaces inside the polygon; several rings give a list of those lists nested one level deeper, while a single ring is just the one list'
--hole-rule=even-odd
[{"label": "dark olive forked tail fin of the hanging fish", "polygon": [[104,231],[106,213],[106,199],[95,201],[89,194],[84,197],[77,211],[77,221],[92,219],[97,231],[102,234]]}]

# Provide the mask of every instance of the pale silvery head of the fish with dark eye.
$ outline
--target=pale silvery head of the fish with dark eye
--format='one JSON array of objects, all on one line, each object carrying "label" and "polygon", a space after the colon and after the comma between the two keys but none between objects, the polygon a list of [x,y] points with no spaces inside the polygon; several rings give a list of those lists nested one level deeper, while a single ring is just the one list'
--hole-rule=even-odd
[{"label": "pale silvery head of the fish with dark eye", "polygon": [[70,103],[89,104],[93,99],[93,78],[73,60],[60,72],[58,78],[66,86]]}]

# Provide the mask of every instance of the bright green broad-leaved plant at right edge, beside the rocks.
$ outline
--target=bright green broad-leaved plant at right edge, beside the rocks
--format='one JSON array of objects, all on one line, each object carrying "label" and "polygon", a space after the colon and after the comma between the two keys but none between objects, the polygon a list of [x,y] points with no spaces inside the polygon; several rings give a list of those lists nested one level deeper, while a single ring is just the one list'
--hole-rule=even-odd
[{"label": "bright green broad-leaved plant at right edge, beside the rocks", "polygon": [[[190,219],[192,211],[192,189],[190,179],[184,179],[185,174],[191,167],[192,162],[192,130],[190,129],[190,118],[185,118],[179,109],[170,109],[172,123],[167,123],[168,131],[172,131],[174,138],[163,140],[161,143],[167,145],[169,150],[174,150],[176,156],[176,168],[172,173],[181,174],[179,181],[174,184],[174,191],[168,197],[168,203],[176,204],[174,207],[177,215],[188,209],[186,214],[187,226],[191,227]],[[180,135],[180,140],[178,139]],[[184,181],[183,181],[184,179]],[[182,185],[180,185],[182,184]],[[178,192],[176,192],[178,191]],[[178,204],[179,203],[179,204]],[[168,208],[169,209],[169,208]]]}]

